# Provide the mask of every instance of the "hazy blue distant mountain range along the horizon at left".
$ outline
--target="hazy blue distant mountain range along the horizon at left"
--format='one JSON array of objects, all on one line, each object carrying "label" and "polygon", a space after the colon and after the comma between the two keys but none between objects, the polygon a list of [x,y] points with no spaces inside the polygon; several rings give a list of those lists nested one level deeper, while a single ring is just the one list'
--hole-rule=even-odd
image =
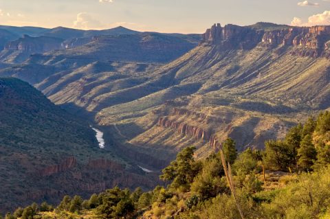
[{"label": "hazy blue distant mountain range along the horizon at left", "polygon": [[[80,56],[94,60],[168,62],[195,47],[199,34],[136,32],[125,27],[109,30],[75,30],[66,27],[0,26],[0,61],[25,62],[32,54]],[[79,48],[77,53],[76,47]],[[67,51],[65,50],[67,49]],[[61,50],[56,53],[55,50]],[[132,52],[134,51],[134,52]]]}]

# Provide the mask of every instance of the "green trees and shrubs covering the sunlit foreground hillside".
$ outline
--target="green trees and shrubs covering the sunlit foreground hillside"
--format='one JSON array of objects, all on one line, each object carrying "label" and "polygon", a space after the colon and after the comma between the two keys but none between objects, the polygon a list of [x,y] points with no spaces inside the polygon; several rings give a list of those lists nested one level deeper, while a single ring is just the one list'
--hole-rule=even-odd
[{"label": "green trees and shrubs covering the sunlit foreground hillside", "polygon": [[[264,151],[237,154],[227,139],[221,152],[197,161],[195,148],[185,148],[160,176],[167,187],[114,187],[88,200],[65,196],[54,211],[47,203],[32,204],[5,218],[329,218],[329,135],[330,113],[320,113],[284,139],[266,141]],[[274,173],[281,173],[277,185]]]}]

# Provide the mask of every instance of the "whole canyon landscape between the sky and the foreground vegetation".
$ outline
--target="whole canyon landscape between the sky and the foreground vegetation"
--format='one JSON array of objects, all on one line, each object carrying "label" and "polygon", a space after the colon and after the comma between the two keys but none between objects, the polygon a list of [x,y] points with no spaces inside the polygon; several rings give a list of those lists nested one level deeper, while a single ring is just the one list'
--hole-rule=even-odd
[{"label": "whole canyon landscape between the sky and the foreground vegetation", "polygon": [[[10,194],[26,203],[45,197],[56,203],[63,194],[87,196],[115,185],[150,189],[182,148],[195,146],[197,159],[208,157],[228,137],[239,151],[263,148],[265,140],[281,139],[311,113],[329,109],[329,26],[216,24],[204,34],[186,35],[122,28],[9,30],[12,36],[3,33],[0,77],[25,80],[57,105],[41,95],[32,102],[19,95],[0,102],[1,111],[17,106],[54,126],[54,133],[47,129],[50,136],[27,126],[15,134],[19,140],[0,139],[1,168],[12,174],[1,176],[3,189],[9,191],[9,177],[18,182],[26,177],[31,186],[33,178],[41,179],[40,189],[32,186],[26,196],[15,185]],[[0,97],[12,91],[10,86],[0,80]],[[19,93],[37,92],[21,86]],[[35,106],[37,100],[44,104]],[[63,112],[75,118],[75,126],[63,121]],[[52,115],[57,124],[41,115]],[[19,126],[19,117],[14,119]],[[97,139],[89,124],[103,133],[104,149],[98,147],[100,132]],[[28,130],[36,135],[23,138]],[[5,169],[7,163],[28,175],[15,175]]]}]

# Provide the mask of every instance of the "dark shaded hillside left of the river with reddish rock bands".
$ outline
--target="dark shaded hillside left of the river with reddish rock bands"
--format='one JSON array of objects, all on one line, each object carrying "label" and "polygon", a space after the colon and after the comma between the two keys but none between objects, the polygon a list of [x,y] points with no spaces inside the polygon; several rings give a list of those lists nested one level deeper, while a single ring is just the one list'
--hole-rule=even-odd
[{"label": "dark shaded hillside left of the river with reddish rock bands", "polygon": [[[157,181],[109,149],[98,148],[86,120],[55,106],[15,78],[0,78],[0,211],[63,194],[107,187],[148,188]],[[110,145],[110,144],[109,144]]]}]

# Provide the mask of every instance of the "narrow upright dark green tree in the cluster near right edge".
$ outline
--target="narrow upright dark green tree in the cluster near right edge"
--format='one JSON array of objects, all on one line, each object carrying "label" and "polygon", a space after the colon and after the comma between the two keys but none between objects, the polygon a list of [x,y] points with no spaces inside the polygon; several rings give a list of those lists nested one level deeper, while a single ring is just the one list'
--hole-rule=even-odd
[{"label": "narrow upright dark green tree in the cluster near right edge", "polygon": [[316,160],[316,149],[311,135],[306,135],[298,149],[298,165],[303,170],[310,170]]}]

